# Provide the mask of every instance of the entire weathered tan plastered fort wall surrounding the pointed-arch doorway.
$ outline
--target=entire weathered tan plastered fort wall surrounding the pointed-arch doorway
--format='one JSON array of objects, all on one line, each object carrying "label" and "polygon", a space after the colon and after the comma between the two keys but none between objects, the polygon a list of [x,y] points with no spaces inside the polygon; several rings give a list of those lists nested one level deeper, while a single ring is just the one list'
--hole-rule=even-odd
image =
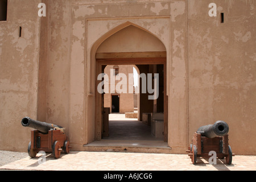
[{"label": "entire weathered tan plastered fort wall surrounding the pointed-arch doorway", "polygon": [[[26,115],[66,127],[73,150],[92,142],[96,51],[133,25],[166,48],[172,151],[185,153],[198,127],[224,120],[233,152],[255,155],[254,1],[44,2],[45,19],[36,16],[39,1],[14,0],[0,22],[1,150],[26,151],[30,129],[20,125]],[[216,17],[208,15],[212,2]]]}]

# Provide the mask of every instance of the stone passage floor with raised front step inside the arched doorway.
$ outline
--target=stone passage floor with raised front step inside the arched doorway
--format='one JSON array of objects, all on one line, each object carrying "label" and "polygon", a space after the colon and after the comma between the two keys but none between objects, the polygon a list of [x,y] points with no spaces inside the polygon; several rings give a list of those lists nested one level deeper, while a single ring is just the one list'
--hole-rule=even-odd
[{"label": "stone passage floor with raised front step inside the arched doorway", "polygon": [[171,154],[163,138],[151,135],[151,128],[125,114],[109,115],[109,136],[84,145],[84,151],[123,151]]}]

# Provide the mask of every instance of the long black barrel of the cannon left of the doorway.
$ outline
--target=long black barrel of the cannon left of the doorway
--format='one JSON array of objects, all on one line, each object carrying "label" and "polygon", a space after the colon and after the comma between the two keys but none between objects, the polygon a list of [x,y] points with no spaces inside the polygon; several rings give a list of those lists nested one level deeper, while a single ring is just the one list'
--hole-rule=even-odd
[{"label": "long black barrel of the cannon left of the doorway", "polygon": [[51,129],[63,128],[61,126],[53,125],[50,123],[35,121],[34,119],[31,119],[30,117],[23,118],[21,123],[22,123],[22,126],[31,127],[32,129],[36,129],[43,134],[48,134],[48,131]]}]

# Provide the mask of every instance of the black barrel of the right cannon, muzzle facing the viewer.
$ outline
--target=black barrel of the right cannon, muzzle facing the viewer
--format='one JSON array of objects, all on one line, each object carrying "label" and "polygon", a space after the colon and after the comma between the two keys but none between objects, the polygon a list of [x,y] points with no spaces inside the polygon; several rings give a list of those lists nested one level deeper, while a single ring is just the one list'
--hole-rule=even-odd
[{"label": "black barrel of the right cannon, muzzle facing the viewer", "polygon": [[213,125],[201,126],[197,133],[200,133],[202,137],[214,138],[222,137],[229,132],[229,126],[224,121],[217,121]]}]

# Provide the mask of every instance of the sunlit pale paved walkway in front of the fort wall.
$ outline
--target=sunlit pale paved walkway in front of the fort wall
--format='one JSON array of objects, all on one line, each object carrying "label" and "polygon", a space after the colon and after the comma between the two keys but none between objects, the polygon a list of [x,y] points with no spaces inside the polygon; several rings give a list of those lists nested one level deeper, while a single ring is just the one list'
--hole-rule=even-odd
[{"label": "sunlit pale paved walkway in front of the fort wall", "polygon": [[188,155],[142,154],[129,152],[70,152],[54,159],[47,154],[46,162],[39,164],[40,156],[29,156],[1,166],[1,169],[46,170],[46,171],[255,171],[256,156],[234,156],[231,165],[225,159],[217,159],[211,165],[205,159],[197,159],[193,165]]}]

